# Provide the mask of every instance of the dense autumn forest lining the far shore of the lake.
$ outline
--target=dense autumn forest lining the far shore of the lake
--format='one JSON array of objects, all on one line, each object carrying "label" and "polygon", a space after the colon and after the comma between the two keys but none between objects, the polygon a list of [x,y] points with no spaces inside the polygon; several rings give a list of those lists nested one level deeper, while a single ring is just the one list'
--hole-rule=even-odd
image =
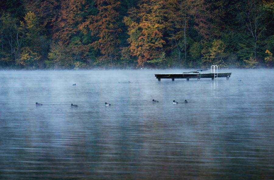
[{"label": "dense autumn forest lining the far shore of the lake", "polygon": [[1,69],[273,68],[273,0],[0,0]]}]

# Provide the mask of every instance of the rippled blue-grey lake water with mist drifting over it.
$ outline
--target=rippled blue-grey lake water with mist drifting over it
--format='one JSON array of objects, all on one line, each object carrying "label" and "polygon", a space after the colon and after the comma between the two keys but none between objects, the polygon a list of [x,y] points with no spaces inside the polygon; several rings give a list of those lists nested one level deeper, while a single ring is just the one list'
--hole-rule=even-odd
[{"label": "rippled blue-grey lake water with mist drifting over it", "polygon": [[274,71],[185,71],[0,71],[0,179],[273,179]]}]

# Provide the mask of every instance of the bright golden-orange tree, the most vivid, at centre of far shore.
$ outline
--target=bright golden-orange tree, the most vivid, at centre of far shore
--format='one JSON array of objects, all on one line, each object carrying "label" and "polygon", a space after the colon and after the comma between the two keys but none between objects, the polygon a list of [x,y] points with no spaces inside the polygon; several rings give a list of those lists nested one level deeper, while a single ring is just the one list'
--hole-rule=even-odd
[{"label": "bright golden-orange tree, the most vivid, at centre of far shore", "polygon": [[143,0],[138,8],[133,8],[129,16],[124,18],[128,26],[128,43],[133,56],[138,57],[139,66],[144,66],[146,62],[161,60],[164,53],[163,32],[165,22],[163,20],[163,1]]}]

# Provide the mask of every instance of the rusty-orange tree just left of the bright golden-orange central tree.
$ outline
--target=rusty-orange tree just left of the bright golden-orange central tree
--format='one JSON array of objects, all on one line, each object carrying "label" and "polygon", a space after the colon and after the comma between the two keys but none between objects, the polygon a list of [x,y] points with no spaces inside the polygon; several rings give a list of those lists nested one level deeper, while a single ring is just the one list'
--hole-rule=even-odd
[{"label": "rusty-orange tree just left of the bright golden-orange central tree", "polygon": [[94,6],[97,8],[96,15],[90,15],[85,22],[79,25],[79,29],[84,33],[90,33],[96,37],[91,43],[100,55],[99,61],[110,61],[111,66],[119,55],[119,1],[114,0],[95,0]]}]

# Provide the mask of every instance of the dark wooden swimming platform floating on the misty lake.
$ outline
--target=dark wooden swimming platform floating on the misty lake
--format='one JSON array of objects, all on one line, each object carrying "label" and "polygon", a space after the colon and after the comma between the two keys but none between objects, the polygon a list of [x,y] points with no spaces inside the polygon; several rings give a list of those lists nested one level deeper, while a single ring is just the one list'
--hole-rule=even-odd
[{"label": "dark wooden swimming platform floating on the misty lake", "polygon": [[161,79],[186,79],[189,81],[189,79],[197,79],[200,80],[201,78],[211,78],[212,80],[216,78],[227,78],[229,80],[231,72],[227,73],[199,73],[198,71],[206,71],[207,69],[197,70],[197,71],[191,71],[188,73],[174,73],[174,74],[155,74],[155,77],[158,79],[158,81],[161,81]]}]

